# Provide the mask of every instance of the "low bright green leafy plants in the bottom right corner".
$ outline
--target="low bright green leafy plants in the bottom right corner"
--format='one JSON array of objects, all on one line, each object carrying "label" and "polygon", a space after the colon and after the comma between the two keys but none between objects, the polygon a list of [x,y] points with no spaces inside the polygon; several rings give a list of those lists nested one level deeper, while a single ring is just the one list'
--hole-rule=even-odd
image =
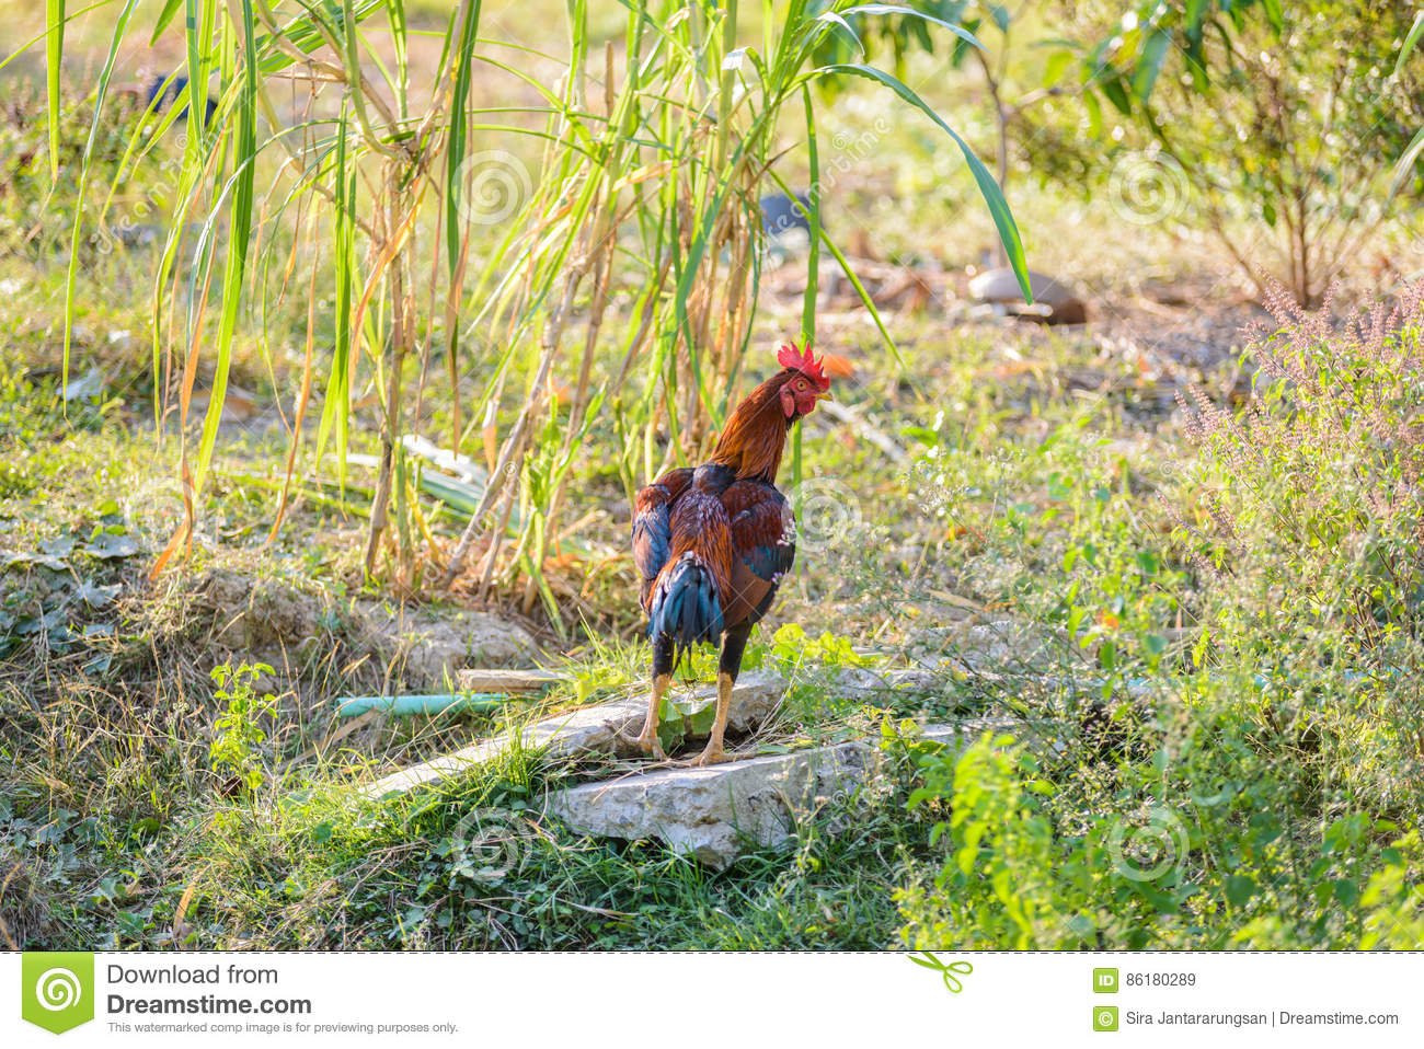
[{"label": "low bright green leafy plants in the bottom right corner", "polygon": [[[1407,942],[1408,929],[1424,922],[1417,831],[1394,840],[1397,824],[1358,811],[1323,827],[1294,823],[1293,811],[1309,811],[1300,791],[1307,777],[1253,749],[1240,713],[1203,717],[1216,732],[1192,730],[1199,746],[1176,752],[1175,761],[1163,746],[1102,776],[1040,760],[1031,744],[1004,736],[923,759],[924,781],[910,806],[948,810],[931,831],[947,857],[896,892],[903,942],[916,949]],[[1222,743],[1225,754],[1213,749]],[[1226,780],[1213,779],[1219,767],[1230,770]]]}]

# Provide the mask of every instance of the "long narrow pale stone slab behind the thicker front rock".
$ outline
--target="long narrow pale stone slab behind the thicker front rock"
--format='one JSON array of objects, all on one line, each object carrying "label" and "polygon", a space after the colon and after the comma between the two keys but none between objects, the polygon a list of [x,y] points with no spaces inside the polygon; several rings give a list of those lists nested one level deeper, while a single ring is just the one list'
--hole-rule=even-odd
[{"label": "long narrow pale stone slab behind the thicker front rock", "polygon": [[[760,729],[785,695],[786,679],[780,675],[768,670],[742,675],[732,689],[732,702],[726,717],[728,733],[748,736]],[[701,686],[691,692],[675,687],[668,696],[679,705],[709,697],[716,699],[715,685]],[[634,757],[641,752],[632,744],[632,737],[642,727],[646,712],[646,695],[580,707],[523,729],[521,744],[530,749],[540,747],[547,757],[553,759],[581,754]],[[696,732],[688,736],[688,739],[695,737]],[[490,761],[507,750],[511,743],[514,743],[514,733],[480,740],[454,753],[392,773],[365,787],[362,793],[369,797],[386,797],[416,787],[439,784],[451,776],[459,776]]]}]

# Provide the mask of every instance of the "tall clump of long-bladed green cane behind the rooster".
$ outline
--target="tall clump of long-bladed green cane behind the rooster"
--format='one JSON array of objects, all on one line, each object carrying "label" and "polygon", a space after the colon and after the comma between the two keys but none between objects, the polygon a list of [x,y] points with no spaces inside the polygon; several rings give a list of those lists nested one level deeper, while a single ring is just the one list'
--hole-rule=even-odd
[{"label": "tall clump of long-bladed green cane behind the rooster", "polygon": [[[95,121],[138,6],[114,3],[120,16]],[[585,518],[568,505],[574,455],[592,427],[612,428],[624,438],[614,467],[631,492],[661,465],[706,450],[735,400],[750,337],[762,259],[758,198],[772,186],[789,191],[776,167],[789,148],[805,147],[812,185],[809,204],[799,205],[812,229],[800,337],[816,337],[824,251],[894,353],[820,222],[822,95],[810,90],[819,80],[887,88],[950,137],[1027,296],[1014,219],[964,139],[893,74],[813,58],[829,34],[859,46],[853,16],[921,19],[977,47],[971,33],[906,7],[847,0],[763,0],[753,19],[742,17],[738,0],[624,0],[624,7],[621,40],[597,51],[587,0],[568,0],[567,53],[548,56],[481,38],[480,1],[460,0],[437,67],[413,80],[402,0],[167,0],[148,31],[152,40],[184,34],[187,63],[172,77],[188,81],[187,138],[154,276],[152,369],[158,418],[172,410],[181,424],[188,512],[155,571],[191,542],[234,343],[251,307],[265,309],[275,273],[282,295],[305,283],[308,336],[273,531],[300,450],[310,446],[308,408],[319,397],[315,461],[335,457],[345,483],[353,404],[365,394],[379,404],[367,578],[386,568],[406,591],[464,579],[525,611],[543,596],[561,625],[545,561]],[[67,17],[61,0],[50,0],[48,10],[54,110]],[[553,83],[534,70],[550,61],[561,70]],[[538,102],[476,105],[471,87],[484,75],[514,77]],[[178,110],[150,105],[115,185],[177,127]],[[531,144],[537,159],[523,172],[527,192],[515,194],[498,222],[486,222],[470,206],[481,158],[513,155],[483,147],[508,141]],[[83,214],[75,209],[75,245]],[[75,251],[70,317],[77,265]],[[329,317],[319,316],[325,310]],[[329,347],[318,344],[320,322],[335,333]],[[201,426],[189,427],[206,360],[212,390]],[[64,363],[67,370],[67,340]],[[478,500],[453,545],[419,510],[403,440],[419,427],[431,380],[449,386],[447,451],[468,463],[477,444],[484,460]],[[659,434],[678,438],[664,444]]]}]

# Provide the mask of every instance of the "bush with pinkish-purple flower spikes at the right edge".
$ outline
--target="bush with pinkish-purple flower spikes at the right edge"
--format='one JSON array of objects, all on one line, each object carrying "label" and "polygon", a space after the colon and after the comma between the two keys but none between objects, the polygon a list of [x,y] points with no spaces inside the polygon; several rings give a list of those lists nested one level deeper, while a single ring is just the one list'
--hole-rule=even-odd
[{"label": "bush with pinkish-purple flower spikes at the right edge", "polygon": [[1307,313],[1277,289],[1270,306],[1280,329],[1249,350],[1260,370],[1246,410],[1193,391],[1210,538],[1186,532],[1209,571],[1279,595],[1273,616],[1299,609],[1393,650],[1424,625],[1424,285],[1343,327],[1329,302]]}]

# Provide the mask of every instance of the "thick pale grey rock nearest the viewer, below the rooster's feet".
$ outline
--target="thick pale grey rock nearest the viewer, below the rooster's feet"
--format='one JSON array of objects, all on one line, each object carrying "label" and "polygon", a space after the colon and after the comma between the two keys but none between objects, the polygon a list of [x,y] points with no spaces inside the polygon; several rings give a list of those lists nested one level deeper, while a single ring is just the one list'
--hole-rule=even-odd
[{"label": "thick pale grey rock nearest the viewer, below the rooster's feet", "polygon": [[[931,724],[924,739],[967,746],[1007,720]],[[706,769],[666,769],[624,776],[550,794],[548,806],[575,831],[637,841],[655,838],[713,870],[743,848],[779,845],[827,800],[864,783],[880,761],[870,743],[728,761]]]}]

